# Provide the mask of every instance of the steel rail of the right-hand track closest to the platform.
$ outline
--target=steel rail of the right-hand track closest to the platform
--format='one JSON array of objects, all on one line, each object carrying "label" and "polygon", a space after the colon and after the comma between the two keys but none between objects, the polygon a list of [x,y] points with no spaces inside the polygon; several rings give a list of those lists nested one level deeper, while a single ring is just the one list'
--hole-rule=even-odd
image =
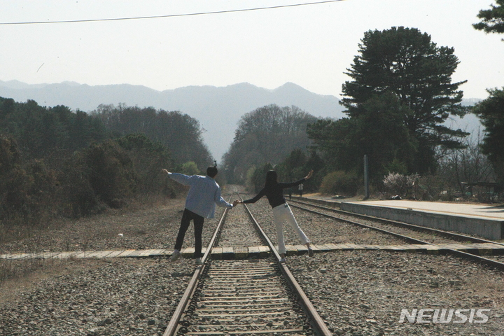
[{"label": "steel rail of the right-hand track closest to the platform", "polygon": [[[386,219],[386,218],[379,218],[379,217],[374,217],[374,216],[369,216],[369,215],[363,215],[363,214],[355,214],[355,213],[350,212],[350,211],[344,211],[344,210],[341,210],[341,209],[322,207],[321,205],[309,204],[307,202],[301,202],[301,201],[298,201],[298,200],[291,200],[290,202],[296,202],[296,203],[300,203],[300,204],[304,204],[304,205],[309,205],[310,207],[314,207],[314,208],[318,208],[318,209],[324,209],[324,210],[336,212],[336,213],[339,213],[339,214],[345,214],[345,215],[348,215],[348,216],[353,216],[353,217],[358,217],[358,218],[365,218],[365,219],[369,219],[371,221],[379,221],[379,222],[382,222],[382,223],[396,225],[396,226],[403,227],[403,228],[409,228],[411,230],[432,232],[432,233],[435,233],[436,235],[440,235],[440,236],[444,236],[444,237],[449,237],[451,239],[456,239],[456,240],[460,240],[460,241],[472,241],[474,243],[490,243],[490,244],[497,244],[497,245],[504,246],[503,243],[499,243],[498,241],[491,241],[491,240],[488,240],[488,239],[482,239],[482,238],[477,238],[477,237],[466,236],[466,235],[462,235],[462,234],[456,233],[456,232],[448,232],[448,231],[443,231],[443,230],[439,230],[439,229],[435,229],[435,228],[427,228],[427,227],[421,226],[421,225],[403,223],[403,222],[399,222],[399,221],[392,221],[392,220]],[[323,201],[317,200],[317,202],[323,202]],[[292,206],[296,207],[294,204],[292,204]]]}]

